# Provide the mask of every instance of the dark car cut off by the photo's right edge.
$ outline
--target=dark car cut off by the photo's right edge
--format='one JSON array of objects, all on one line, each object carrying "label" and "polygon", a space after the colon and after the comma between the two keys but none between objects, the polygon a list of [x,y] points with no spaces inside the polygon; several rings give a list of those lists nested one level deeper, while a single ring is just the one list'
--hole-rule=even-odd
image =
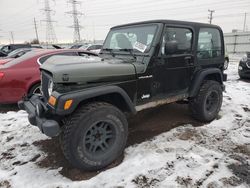
[{"label": "dark car cut off by the photo's right edge", "polygon": [[241,58],[238,73],[242,79],[250,78],[250,52],[246,52],[246,54]]}]

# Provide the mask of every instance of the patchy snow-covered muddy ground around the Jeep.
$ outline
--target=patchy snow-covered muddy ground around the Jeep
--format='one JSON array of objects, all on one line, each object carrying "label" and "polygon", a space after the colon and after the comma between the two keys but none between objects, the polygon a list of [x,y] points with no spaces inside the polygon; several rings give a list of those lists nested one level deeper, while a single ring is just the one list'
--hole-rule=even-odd
[{"label": "patchy snow-covered muddy ground around the Jeep", "polygon": [[250,83],[229,66],[222,110],[201,127],[190,124],[128,147],[118,166],[72,181],[41,168],[46,153],[33,142],[48,137],[24,111],[0,114],[0,187],[249,187]]}]

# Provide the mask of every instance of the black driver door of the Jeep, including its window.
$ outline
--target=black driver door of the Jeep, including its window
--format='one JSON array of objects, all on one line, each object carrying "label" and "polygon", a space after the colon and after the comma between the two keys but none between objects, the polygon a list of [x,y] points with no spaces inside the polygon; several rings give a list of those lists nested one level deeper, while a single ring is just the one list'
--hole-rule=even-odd
[{"label": "black driver door of the Jeep, including its window", "polygon": [[192,44],[191,28],[165,28],[160,57],[154,62],[152,88],[155,97],[187,93],[194,70]]}]

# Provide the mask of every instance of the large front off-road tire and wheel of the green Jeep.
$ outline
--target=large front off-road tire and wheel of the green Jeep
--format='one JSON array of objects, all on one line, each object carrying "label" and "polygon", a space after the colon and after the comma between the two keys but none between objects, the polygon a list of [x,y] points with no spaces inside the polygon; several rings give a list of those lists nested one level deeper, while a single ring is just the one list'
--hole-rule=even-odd
[{"label": "large front off-road tire and wheel of the green Jeep", "polygon": [[66,159],[76,168],[94,171],[108,166],[123,153],[128,123],[115,106],[93,102],[66,118],[61,134]]}]

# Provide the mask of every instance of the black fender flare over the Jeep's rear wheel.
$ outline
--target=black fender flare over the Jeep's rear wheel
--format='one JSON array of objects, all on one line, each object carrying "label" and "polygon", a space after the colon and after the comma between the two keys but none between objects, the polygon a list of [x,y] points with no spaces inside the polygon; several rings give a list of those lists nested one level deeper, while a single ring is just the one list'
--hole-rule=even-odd
[{"label": "black fender flare over the Jeep's rear wheel", "polygon": [[[219,82],[223,85],[223,74],[218,68],[209,68],[199,71],[192,80],[192,85],[189,89],[189,97],[194,97],[199,92],[200,86],[208,75],[216,74],[219,76]],[[216,80],[216,79],[215,79]],[[218,80],[217,80],[218,81]]]}]

